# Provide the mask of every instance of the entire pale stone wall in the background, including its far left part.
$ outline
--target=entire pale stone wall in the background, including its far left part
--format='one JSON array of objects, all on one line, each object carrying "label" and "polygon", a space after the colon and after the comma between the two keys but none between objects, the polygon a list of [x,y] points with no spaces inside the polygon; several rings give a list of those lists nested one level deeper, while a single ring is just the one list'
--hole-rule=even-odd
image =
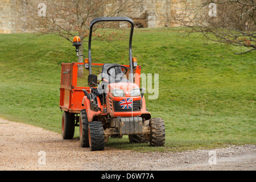
[{"label": "entire pale stone wall in the background, including its far left part", "polygon": [[[195,7],[201,1],[144,0],[142,2],[135,9],[121,13],[122,16],[132,18],[136,27],[175,27],[177,25],[168,20],[174,15],[184,14],[186,6]],[[189,3],[185,4],[185,2]],[[22,28],[26,22],[26,8],[24,8],[26,6],[26,0],[0,0],[0,33],[28,32]],[[103,15],[107,14],[108,9],[104,11]]]}]

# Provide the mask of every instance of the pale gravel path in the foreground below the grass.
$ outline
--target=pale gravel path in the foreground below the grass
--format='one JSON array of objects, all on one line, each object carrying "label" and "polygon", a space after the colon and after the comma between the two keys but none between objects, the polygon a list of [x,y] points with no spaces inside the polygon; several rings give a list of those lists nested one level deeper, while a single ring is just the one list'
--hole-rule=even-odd
[{"label": "pale gravel path in the foreground below the grass", "polygon": [[90,151],[79,139],[0,119],[0,170],[250,170],[256,146],[229,146],[184,152],[134,152],[105,147]]}]

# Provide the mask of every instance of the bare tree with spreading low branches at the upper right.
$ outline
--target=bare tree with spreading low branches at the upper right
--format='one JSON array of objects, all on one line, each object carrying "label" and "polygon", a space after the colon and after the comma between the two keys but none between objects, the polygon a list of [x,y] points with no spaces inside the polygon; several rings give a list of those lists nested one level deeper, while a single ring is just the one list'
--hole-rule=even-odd
[{"label": "bare tree with spreading low branches at the upper right", "polygon": [[185,2],[182,14],[172,16],[170,23],[190,27],[187,35],[200,32],[208,40],[247,47],[238,55],[256,49],[256,1],[255,0],[204,0],[191,7]]}]

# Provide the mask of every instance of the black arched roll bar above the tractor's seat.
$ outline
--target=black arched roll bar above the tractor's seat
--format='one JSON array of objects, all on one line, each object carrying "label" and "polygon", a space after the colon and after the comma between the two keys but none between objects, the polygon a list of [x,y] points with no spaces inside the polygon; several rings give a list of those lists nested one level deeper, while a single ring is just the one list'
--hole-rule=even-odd
[{"label": "black arched roll bar above the tractor's seat", "polygon": [[89,58],[89,73],[92,74],[92,55],[91,55],[91,43],[92,43],[92,31],[93,25],[98,22],[129,22],[131,24],[130,41],[129,41],[129,61],[130,61],[130,73],[131,80],[133,80],[133,55],[131,53],[131,43],[133,40],[134,23],[133,20],[128,17],[99,17],[92,20],[90,23],[90,34],[88,43],[88,58]]}]

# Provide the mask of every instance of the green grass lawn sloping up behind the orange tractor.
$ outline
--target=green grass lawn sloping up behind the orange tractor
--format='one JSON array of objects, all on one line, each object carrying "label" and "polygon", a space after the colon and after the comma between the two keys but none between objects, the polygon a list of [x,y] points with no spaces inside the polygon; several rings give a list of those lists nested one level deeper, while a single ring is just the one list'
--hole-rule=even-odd
[{"label": "green grass lawn sloping up behind the orange tractor", "polygon": [[[77,60],[75,47],[51,34],[0,34],[0,48],[0,117],[61,133],[60,64]],[[256,52],[233,54],[244,49],[178,37],[172,29],[135,29],[133,56],[142,73],[159,74],[158,99],[145,96],[152,117],[165,121],[166,145],[129,144],[125,136],[106,146],[174,151],[255,144]],[[92,57],[128,64],[128,43],[93,42]]]}]

